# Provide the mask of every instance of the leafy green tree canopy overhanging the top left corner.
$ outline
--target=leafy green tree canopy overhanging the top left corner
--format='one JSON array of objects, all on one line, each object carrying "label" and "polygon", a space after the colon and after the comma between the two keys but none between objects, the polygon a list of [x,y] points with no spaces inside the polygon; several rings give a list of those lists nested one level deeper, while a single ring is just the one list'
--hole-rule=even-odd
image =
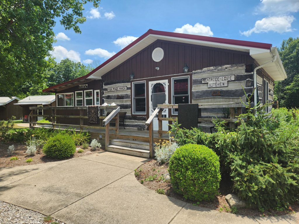
[{"label": "leafy green tree canopy overhanging the top left corner", "polygon": [[66,30],[81,33],[87,2],[98,7],[100,0],[0,1],[1,96],[17,95],[26,83],[40,85],[51,66],[46,57],[55,42],[55,19],[60,18]]}]

